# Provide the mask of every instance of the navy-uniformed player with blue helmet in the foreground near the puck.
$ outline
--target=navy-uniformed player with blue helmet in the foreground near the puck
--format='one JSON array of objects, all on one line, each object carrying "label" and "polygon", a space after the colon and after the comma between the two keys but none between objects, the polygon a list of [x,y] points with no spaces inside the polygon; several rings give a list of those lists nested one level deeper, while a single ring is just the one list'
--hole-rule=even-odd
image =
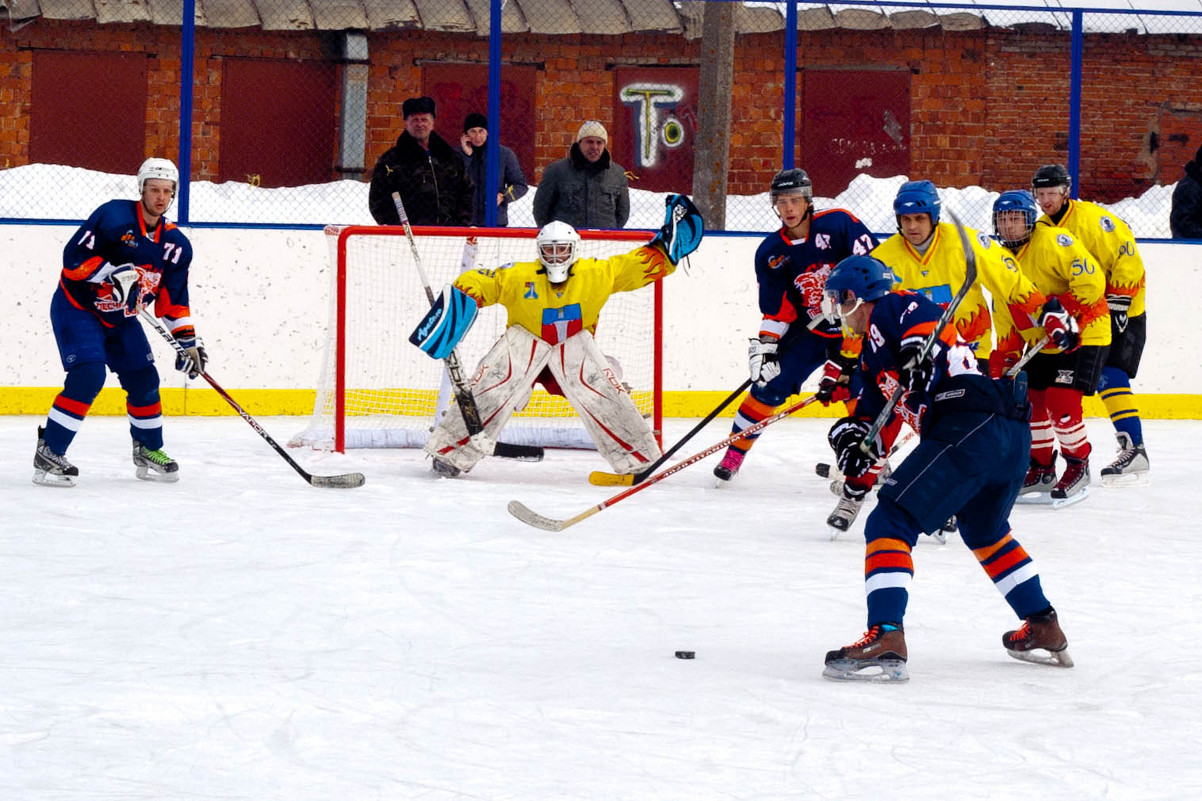
[{"label": "navy-uniformed player with blue helmet in the foreground near the puck", "polygon": [[[873,256],[852,256],[827,277],[832,316],[864,338],[863,385],[856,415],[831,428],[845,475],[862,475],[881,456],[877,435],[861,447],[899,386],[894,413],[918,433],[918,446],[883,481],[864,527],[868,633],[826,655],[823,676],[838,681],[906,681],[903,617],[923,532],[952,515],[960,536],[1023,625],[1002,635],[1025,661],[1072,666],[1055,610],[1031,558],[1010,533],[1010,509],[1027,476],[1031,434],[1025,382],[994,381],[954,326],[945,326],[926,358],[918,354],[944,309],[926,296],[891,291],[897,278]],[[1022,375],[1022,374],[1020,374]],[[1042,653],[1041,653],[1042,652]]]}]

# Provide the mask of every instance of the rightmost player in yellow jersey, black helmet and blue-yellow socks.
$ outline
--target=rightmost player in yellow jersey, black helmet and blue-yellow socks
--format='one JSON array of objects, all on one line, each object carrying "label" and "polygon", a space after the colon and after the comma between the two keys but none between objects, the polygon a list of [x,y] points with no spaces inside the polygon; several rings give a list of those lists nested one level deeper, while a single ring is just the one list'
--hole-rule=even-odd
[{"label": "rightmost player in yellow jersey, black helmet and blue-yellow socks", "polygon": [[1143,445],[1139,409],[1131,379],[1148,334],[1144,313],[1143,259],[1126,222],[1096,203],[1069,196],[1072,179],[1063,165],[1040,167],[1031,179],[1035,202],[1051,225],[1067,229],[1106,273],[1106,302],[1111,309],[1111,352],[1102,367],[1097,393],[1114,423],[1119,455],[1102,468],[1102,485],[1148,482],[1148,452]]}]

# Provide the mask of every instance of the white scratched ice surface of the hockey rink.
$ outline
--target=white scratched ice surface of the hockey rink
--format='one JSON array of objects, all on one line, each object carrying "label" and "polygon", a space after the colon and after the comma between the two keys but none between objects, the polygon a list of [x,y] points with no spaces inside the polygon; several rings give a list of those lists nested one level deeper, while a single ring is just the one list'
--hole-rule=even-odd
[{"label": "white scratched ice surface of the hockey rink", "polygon": [[829,420],[559,534],[506,504],[611,497],[595,453],[445,480],[417,451],[294,451],[367,475],[317,489],[240,419],[168,419],[183,480],[154,485],[94,417],[56,489],[30,482],[40,422],[0,417],[5,799],[1202,797],[1198,421],[1146,422],[1152,483],[1103,488],[1089,420],[1091,497],[1014,511],[1076,668],[1007,657],[970,552],[923,538],[894,686],[820,675],[864,629],[867,514],[831,541],[814,471]]}]

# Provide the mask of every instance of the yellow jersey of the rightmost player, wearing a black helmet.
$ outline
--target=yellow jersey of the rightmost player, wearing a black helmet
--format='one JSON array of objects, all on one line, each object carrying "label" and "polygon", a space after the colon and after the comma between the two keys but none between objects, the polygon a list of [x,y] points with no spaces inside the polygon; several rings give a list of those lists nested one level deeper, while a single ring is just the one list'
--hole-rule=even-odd
[{"label": "yellow jersey of the rightmost player, wearing a black helmet", "polygon": [[1130,316],[1137,318],[1144,313],[1143,259],[1139,257],[1135,235],[1126,222],[1097,203],[1078,200],[1069,201],[1059,224],[1053,222],[1047,214],[1040,216],[1040,221],[1069,229],[1106,272],[1106,293],[1130,297]]}]

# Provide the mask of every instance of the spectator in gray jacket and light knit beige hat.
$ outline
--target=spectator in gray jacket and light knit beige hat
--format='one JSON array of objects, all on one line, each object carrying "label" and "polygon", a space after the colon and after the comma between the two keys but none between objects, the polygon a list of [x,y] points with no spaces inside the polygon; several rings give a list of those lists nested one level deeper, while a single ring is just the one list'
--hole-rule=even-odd
[{"label": "spectator in gray jacket and light knit beige hat", "polygon": [[589,120],[566,159],[552,162],[534,194],[538,227],[554,220],[575,229],[620,229],[630,219],[626,171],[613,162],[605,125]]}]

